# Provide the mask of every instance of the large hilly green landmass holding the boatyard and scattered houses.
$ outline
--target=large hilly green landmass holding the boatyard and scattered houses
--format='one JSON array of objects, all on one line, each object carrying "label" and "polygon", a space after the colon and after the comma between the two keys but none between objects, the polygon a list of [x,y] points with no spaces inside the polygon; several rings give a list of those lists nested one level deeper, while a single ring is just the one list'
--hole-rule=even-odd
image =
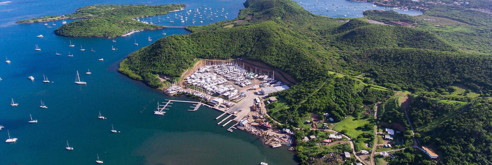
[{"label": "large hilly green landmass holding the boatyard and scattered houses", "polygon": [[[292,138],[286,143],[301,165],[491,164],[491,14],[439,6],[421,16],[368,10],[364,18],[328,18],[292,0],[244,6],[234,20],[190,26],[191,34],[129,54],[119,71],[226,107],[227,97],[193,85],[189,75],[246,70],[223,69],[265,87],[247,89],[257,99],[238,100],[245,108],[231,113],[253,105],[240,126],[272,147]],[[255,66],[294,84],[277,89],[276,81],[256,80],[274,76]]]}]

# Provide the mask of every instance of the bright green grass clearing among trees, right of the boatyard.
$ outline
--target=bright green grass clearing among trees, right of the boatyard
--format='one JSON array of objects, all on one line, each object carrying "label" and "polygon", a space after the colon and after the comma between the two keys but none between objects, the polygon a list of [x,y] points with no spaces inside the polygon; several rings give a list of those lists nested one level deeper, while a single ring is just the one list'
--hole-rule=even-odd
[{"label": "bright green grass clearing among trees, right of the boatyard", "polygon": [[354,117],[352,116],[348,116],[347,118],[337,122],[337,123],[333,123],[333,126],[331,126],[330,128],[332,128],[333,130],[335,131],[338,131],[340,132],[341,130],[344,130],[346,129],[347,130],[347,133],[346,135],[350,138],[356,138],[357,136],[359,136],[360,134],[364,133],[364,132],[369,132],[371,133],[373,128],[366,128],[366,129],[360,129],[360,128],[357,128],[357,127],[360,127],[360,126],[363,126],[364,124],[367,124],[369,123],[369,118],[362,118],[362,119],[355,119]]}]

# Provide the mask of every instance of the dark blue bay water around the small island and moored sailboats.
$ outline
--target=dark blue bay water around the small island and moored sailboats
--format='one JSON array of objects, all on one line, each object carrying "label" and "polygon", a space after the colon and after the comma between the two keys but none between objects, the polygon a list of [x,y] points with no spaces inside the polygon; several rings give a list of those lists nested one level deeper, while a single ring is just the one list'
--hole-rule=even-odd
[{"label": "dark blue bay water around the small island and moored sailboats", "polygon": [[[0,1],[0,2],[5,2]],[[118,64],[131,52],[148,46],[163,30],[146,30],[128,37],[68,38],[53,30],[62,21],[14,24],[17,20],[72,13],[91,4],[170,4],[130,0],[11,0],[0,3],[0,165],[88,165],[99,154],[105,165],[295,165],[294,153],[287,147],[270,148],[256,137],[240,130],[226,131],[217,125],[221,113],[202,106],[186,111],[190,103],[174,103],[163,116],[153,114],[156,101],[170,99],[144,83],[117,72]],[[229,19],[237,17],[242,0],[185,1],[187,10],[205,3],[215,10],[224,8]],[[217,11],[217,10],[215,10]],[[221,10],[219,10],[220,12]],[[157,21],[155,19],[153,22]],[[161,17],[162,18],[162,17]],[[149,19],[146,17],[146,20]],[[150,20],[150,19],[149,19]],[[225,20],[217,17],[204,24]],[[70,22],[72,20],[65,20]],[[170,24],[193,25],[188,21]],[[167,35],[186,34],[180,28],[165,29]],[[42,34],[44,37],[38,38]],[[153,41],[147,41],[148,37]],[[134,42],[139,44],[134,45]],[[75,47],[68,47],[69,41]],[[34,50],[35,45],[41,51]],[[85,48],[81,51],[80,46]],[[111,50],[114,46],[116,50]],[[91,49],[95,52],[91,52]],[[62,55],[55,55],[56,52]],[[68,51],[73,57],[68,57]],[[98,59],[103,58],[104,61]],[[85,74],[87,70],[92,74]],[[76,71],[86,85],[74,83]],[[53,83],[44,83],[43,74]],[[35,79],[31,81],[28,76]],[[10,106],[10,99],[19,103]],[[189,100],[184,97],[172,99]],[[39,108],[40,100],[48,106]],[[101,112],[107,119],[97,118]],[[38,123],[28,123],[29,115]],[[111,124],[120,133],[112,133]],[[233,123],[229,124],[232,125]],[[15,143],[7,139],[7,129]],[[74,150],[66,150],[67,141]]]}]

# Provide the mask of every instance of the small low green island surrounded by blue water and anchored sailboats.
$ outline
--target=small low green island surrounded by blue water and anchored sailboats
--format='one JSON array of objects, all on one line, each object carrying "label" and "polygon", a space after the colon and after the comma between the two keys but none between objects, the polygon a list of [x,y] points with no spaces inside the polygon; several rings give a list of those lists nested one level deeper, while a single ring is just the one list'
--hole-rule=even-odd
[{"label": "small low green island surrounded by blue water and anchored sailboats", "polygon": [[33,18],[31,20],[17,21],[16,23],[31,24],[62,19],[81,19],[63,24],[55,29],[55,34],[65,37],[113,38],[131,31],[161,28],[161,25],[144,24],[137,21],[136,18],[163,15],[170,11],[182,10],[185,6],[184,4],[96,4],[80,7],[72,14]]}]

